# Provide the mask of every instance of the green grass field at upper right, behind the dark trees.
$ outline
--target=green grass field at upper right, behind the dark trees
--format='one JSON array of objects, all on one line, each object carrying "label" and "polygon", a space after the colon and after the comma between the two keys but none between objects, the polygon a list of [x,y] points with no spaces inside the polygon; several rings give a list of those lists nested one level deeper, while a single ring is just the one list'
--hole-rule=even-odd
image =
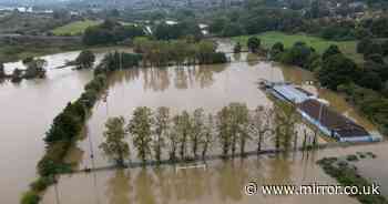
[{"label": "green grass field at upper right, behind the dark trees", "polygon": [[[232,39],[245,45],[249,37],[251,35],[242,35]],[[330,44],[337,44],[348,58],[351,58],[357,63],[364,62],[363,55],[356,52],[357,41],[329,41],[307,34],[285,34],[283,32],[264,32],[257,34],[257,37],[262,40],[262,44],[266,49],[270,49],[276,42],[282,42],[285,48],[289,48],[295,42],[303,41],[313,47],[317,52],[323,53]]]}]

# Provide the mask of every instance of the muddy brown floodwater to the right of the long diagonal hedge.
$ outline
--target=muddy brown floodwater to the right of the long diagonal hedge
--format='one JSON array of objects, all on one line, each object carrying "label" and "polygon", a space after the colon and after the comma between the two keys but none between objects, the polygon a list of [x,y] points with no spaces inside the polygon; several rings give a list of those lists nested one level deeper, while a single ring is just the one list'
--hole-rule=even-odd
[{"label": "muddy brown floodwater to the right of the long diagonal hedge", "polygon": [[[224,45],[225,48],[229,48]],[[232,59],[254,59],[239,54]],[[223,65],[166,69],[133,69],[116,72],[110,78],[106,101],[100,101],[93,109],[84,137],[80,139],[68,156],[76,162],[75,169],[110,165],[101,150],[104,123],[111,116],[126,119],[136,106],[169,106],[173,112],[193,111],[204,108],[207,112],[218,111],[229,102],[244,102],[249,109],[257,105],[270,106],[272,101],[257,89],[258,79],[287,80],[304,85],[313,80],[309,72],[280,67],[270,62],[232,62]],[[314,86],[306,86],[315,90]],[[348,113],[361,123],[370,124],[336,94],[316,90],[338,111]],[[341,100],[340,102],[338,102]],[[340,106],[343,105],[344,106]],[[369,130],[375,130],[370,124]],[[381,144],[382,145],[382,144]],[[385,144],[384,144],[385,145]],[[372,150],[372,146],[365,147]],[[244,185],[251,181],[258,184],[336,184],[315,164],[325,155],[339,155],[353,149],[333,149],[315,152],[308,157],[300,153],[285,156],[261,156],[233,161],[211,161],[207,167],[178,170],[161,166],[132,170],[99,171],[62,175],[58,185],[50,187],[43,197],[44,204],[181,204],[181,203],[358,203],[346,195],[306,196],[247,196]],[[355,150],[356,151],[356,150]],[[93,160],[90,155],[93,153]],[[384,156],[384,155],[381,155]],[[132,156],[134,157],[134,156]],[[386,156],[385,156],[386,157]],[[384,174],[377,174],[386,176]]]}]

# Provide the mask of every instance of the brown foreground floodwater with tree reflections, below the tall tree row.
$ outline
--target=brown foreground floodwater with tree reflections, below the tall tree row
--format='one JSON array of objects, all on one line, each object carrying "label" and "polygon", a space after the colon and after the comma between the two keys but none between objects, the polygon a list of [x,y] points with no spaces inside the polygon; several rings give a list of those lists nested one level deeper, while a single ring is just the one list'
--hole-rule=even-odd
[{"label": "brown foreground floodwater with tree reflections, below the tall tree row", "polygon": [[43,200],[52,203],[101,204],[194,204],[194,203],[266,203],[358,204],[346,195],[264,196],[246,195],[248,182],[257,184],[335,184],[314,164],[315,157],[259,159],[216,161],[206,170],[133,169],[62,176],[57,188],[51,187]]}]

